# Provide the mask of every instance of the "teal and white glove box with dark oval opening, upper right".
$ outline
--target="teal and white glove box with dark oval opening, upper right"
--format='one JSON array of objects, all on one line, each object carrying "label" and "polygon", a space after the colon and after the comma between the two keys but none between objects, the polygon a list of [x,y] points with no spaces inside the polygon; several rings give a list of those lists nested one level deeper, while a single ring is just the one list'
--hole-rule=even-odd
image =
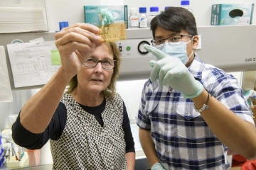
[{"label": "teal and white glove box with dark oval opening, upper right", "polygon": [[210,25],[250,25],[254,4],[213,4]]}]

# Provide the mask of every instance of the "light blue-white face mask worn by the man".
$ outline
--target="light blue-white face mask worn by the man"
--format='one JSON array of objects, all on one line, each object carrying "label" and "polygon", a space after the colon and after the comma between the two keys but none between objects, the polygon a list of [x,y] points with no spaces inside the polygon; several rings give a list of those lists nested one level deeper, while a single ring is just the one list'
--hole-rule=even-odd
[{"label": "light blue-white face mask worn by the man", "polygon": [[[193,38],[191,38],[193,40]],[[180,45],[170,45],[170,44],[176,44],[177,42],[164,42],[163,45],[156,45],[155,47],[162,52],[164,52],[166,55],[169,55],[170,57],[177,57],[183,62],[183,64],[186,64],[190,57],[193,55],[193,51],[191,52],[191,55],[187,54],[186,45],[191,42],[189,40],[188,42],[181,42]],[[180,43],[180,42],[178,42]]]}]

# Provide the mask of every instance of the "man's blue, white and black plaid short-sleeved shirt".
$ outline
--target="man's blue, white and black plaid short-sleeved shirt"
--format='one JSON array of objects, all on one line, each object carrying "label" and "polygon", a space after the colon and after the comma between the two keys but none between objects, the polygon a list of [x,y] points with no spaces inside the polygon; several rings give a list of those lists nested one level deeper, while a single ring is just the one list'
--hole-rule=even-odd
[{"label": "man's blue, white and black plaid short-sleeved shirt", "polygon": [[[224,106],[254,124],[235,77],[203,63],[197,55],[188,69]],[[228,148],[194,110],[193,101],[183,98],[181,92],[170,86],[146,81],[137,125],[151,130],[156,154],[165,169],[227,169],[230,166]]]}]

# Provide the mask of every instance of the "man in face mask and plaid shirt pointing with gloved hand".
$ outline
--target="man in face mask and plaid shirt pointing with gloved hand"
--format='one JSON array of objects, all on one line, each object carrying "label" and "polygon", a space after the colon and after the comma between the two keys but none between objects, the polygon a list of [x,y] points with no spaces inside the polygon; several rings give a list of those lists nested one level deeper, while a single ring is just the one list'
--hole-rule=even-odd
[{"label": "man in face mask and plaid shirt pointing with gloved hand", "polygon": [[227,169],[228,149],[254,158],[255,125],[238,81],[194,53],[193,14],[168,8],[151,30],[154,47],[144,47],[158,61],[150,62],[137,116],[151,169]]}]

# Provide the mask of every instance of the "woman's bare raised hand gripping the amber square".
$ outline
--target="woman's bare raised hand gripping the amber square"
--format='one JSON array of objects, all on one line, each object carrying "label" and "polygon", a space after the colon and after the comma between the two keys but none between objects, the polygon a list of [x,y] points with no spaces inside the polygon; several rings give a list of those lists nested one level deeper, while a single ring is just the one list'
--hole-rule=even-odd
[{"label": "woman's bare raised hand gripping the amber square", "polygon": [[82,63],[102,43],[100,29],[88,23],[76,23],[55,34],[62,69],[77,74]]}]

